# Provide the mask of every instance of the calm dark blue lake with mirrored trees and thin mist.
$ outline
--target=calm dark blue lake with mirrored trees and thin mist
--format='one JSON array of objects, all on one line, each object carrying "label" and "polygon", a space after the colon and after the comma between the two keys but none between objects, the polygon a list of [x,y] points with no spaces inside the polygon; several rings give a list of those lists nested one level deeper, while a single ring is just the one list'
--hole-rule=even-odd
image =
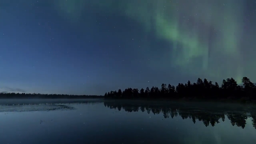
[{"label": "calm dark blue lake with mirrored trees and thin mist", "polygon": [[0,144],[256,144],[256,108],[211,102],[0,100]]}]

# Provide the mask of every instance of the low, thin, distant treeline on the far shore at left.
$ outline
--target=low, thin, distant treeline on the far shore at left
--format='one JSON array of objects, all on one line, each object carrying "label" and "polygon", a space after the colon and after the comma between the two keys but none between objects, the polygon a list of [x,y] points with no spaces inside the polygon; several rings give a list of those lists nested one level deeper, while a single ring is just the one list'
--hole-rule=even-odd
[{"label": "low, thin, distant treeline on the far shore at left", "polygon": [[68,98],[68,99],[82,99],[82,98],[104,98],[103,96],[90,95],[68,95],[68,94],[26,94],[26,93],[0,93],[0,99],[3,98]]}]

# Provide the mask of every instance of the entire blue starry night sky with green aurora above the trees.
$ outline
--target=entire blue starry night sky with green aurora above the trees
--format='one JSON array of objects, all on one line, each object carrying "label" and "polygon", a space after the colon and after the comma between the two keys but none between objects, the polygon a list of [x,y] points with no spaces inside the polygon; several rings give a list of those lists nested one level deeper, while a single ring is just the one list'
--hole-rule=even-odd
[{"label": "entire blue starry night sky with green aurora above the trees", "polygon": [[0,92],[256,82],[256,0],[1,0]]}]

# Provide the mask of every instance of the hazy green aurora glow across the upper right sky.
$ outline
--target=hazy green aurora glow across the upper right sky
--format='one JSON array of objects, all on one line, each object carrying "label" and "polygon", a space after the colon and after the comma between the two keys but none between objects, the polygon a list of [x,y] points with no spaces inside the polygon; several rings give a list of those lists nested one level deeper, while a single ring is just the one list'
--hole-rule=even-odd
[{"label": "hazy green aurora glow across the upper right sky", "polygon": [[[156,37],[170,42],[167,64],[182,72],[222,80],[233,77],[238,83],[243,76],[256,80],[253,53],[248,61],[241,54],[244,43],[255,46],[253,38],[244,40],[243,0],[54,0],[60,16],[73,24],[86,7],[108,16],[118,13],[141,24]],[[252,30],[253,32],[255,31]],[[254,38],[256,36],[253,36]],[[160,68],[152,61],[152,68]],[[250,72],[246,72],[250,71]],[[201,76],[200,76],[201,77]]]}]

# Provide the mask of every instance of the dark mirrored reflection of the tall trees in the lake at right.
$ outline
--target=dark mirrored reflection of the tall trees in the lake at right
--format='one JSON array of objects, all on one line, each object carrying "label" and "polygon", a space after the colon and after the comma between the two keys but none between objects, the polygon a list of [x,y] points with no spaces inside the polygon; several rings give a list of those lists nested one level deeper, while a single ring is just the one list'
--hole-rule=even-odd
[{"label": "dark mirrored reflection of the tall trees in the lake at right", "polygon": [[[224,105],[224,104],[222,104]],[[177,103],[172,104],[152,104],[150,102],[132,103],[126,101],[105,101],[104,106],[110,109],[121,109],[126,112],[147,112],[150,114],[163,114],[164,118],[174,118],[180,116],[184,119],[191,119],[194,124],[196,120],[203,122],[207,127],[209,125],[215,126],[221,121],[225,121],[225,117],[230,120],[232,126],[245,128],[247,118],[252,118],[252,126],[256,129],[256,112],[254,107],[245,107],[239,105],[232,105],[229,107],[204,107],[197,105],[196,107],[184,106]]]}]

